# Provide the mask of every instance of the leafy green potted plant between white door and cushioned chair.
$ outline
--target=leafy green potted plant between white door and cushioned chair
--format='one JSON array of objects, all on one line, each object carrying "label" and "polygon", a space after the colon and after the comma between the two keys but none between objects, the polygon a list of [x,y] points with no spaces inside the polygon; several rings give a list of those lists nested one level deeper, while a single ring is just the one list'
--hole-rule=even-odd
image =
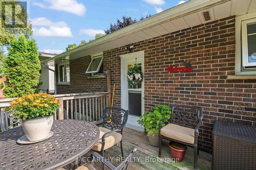
[{"label": "leafy green potted plant between white door and cushioned chair", "polygon": [[162,126],[170,119],[170,107],[165,105],[156,105],[152,112],[145,112],[140,116],[138,123],[144,126],[147,131],[148,141],[154,147],[159,146],[158,131],[159,131],[159,122],[164,119]]}]

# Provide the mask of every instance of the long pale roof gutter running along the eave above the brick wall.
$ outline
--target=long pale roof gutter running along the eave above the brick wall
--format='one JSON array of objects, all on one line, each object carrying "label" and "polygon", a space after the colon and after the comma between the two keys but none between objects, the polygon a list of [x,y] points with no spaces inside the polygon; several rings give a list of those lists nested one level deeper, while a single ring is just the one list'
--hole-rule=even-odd
[{"label": "long pale roof gutter running along the eave above the brick wall", "polygon": [[177,5],[175,7],[167,9],[163,12],[155,14],[151,17],[143,19],[139,22],[136,22],[133,25],[127,26],[123,29],[120,29],[120,30],[114,32],[114,33],[105,35],[101,38],[95,39],[95,40],[88,42],[84,45],[80,45],[76,48],[73,48],[70,51],[61,53],[55,57],[44,60],[44,61],[42,61],[42,63],[48,63],[48,62],[56,60],[58,58],[69,56],[70,54],[73,54],[73,53],[78,53],[78,52],[81,52],[84,50],[88,50],[89,48],[92,48],[94,46],[108,43],[110,41],[125,37],[127,35],[130,35],[130,34],[133,34],[133,33],[139,32],[139,31],[142,31],[144,29],[151,28],[151,27],[160,25],[164,22],[171,21],[171,20],[180,18],[182,16],[188,15],[190,13],[195,13],[195,12],[201,11],[203,9],[210,8],[212,6],[223,4],[228,1],[230,1],[230,0],[190,0],[186,3]]}]

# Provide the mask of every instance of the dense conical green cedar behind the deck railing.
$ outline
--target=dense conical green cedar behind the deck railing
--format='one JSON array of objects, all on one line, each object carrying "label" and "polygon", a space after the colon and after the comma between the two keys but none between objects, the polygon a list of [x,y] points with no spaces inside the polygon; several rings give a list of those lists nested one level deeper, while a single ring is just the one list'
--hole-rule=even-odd
[{"label": "dense conical green cedar behind the deck railing", "polygon": [[38,56],[34,39],[21,35],[11,42],[4,60],[6,98],[36,92],[41,69]]}]

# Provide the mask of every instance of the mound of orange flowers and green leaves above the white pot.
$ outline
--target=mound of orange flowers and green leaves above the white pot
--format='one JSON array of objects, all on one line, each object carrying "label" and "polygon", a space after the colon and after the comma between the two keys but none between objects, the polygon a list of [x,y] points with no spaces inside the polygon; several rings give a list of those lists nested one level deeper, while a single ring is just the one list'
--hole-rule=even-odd
[{"label": "mound of orange flowers and green leaves above the white pot", "polygon": [[22,120],[51,116],[59,108],[59,101],[47,93],[26,94],[10,104],[9,109]]}]

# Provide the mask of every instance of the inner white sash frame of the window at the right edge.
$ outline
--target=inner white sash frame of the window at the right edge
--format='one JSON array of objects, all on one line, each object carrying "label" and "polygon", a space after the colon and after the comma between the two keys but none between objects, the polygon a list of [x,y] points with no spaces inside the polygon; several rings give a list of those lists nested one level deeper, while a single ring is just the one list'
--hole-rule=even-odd
[{"label": "inner white sash frame of the window at the right edge", "polygon": [[248,23],[252,23],[252,22],[256,22],[256,16],[255,18],[252,18],[252,19],[247,19],[247,20],[243,20],[241,22],[241,25],[242,25],[242,61],[243,61],[243,64],[242,66],[243,67],[246,67],[246,66],[256,66],[256,62],[253,62],[253,63],[249,63],[248,62],[248,38],[247,38],[247,24]]}]

